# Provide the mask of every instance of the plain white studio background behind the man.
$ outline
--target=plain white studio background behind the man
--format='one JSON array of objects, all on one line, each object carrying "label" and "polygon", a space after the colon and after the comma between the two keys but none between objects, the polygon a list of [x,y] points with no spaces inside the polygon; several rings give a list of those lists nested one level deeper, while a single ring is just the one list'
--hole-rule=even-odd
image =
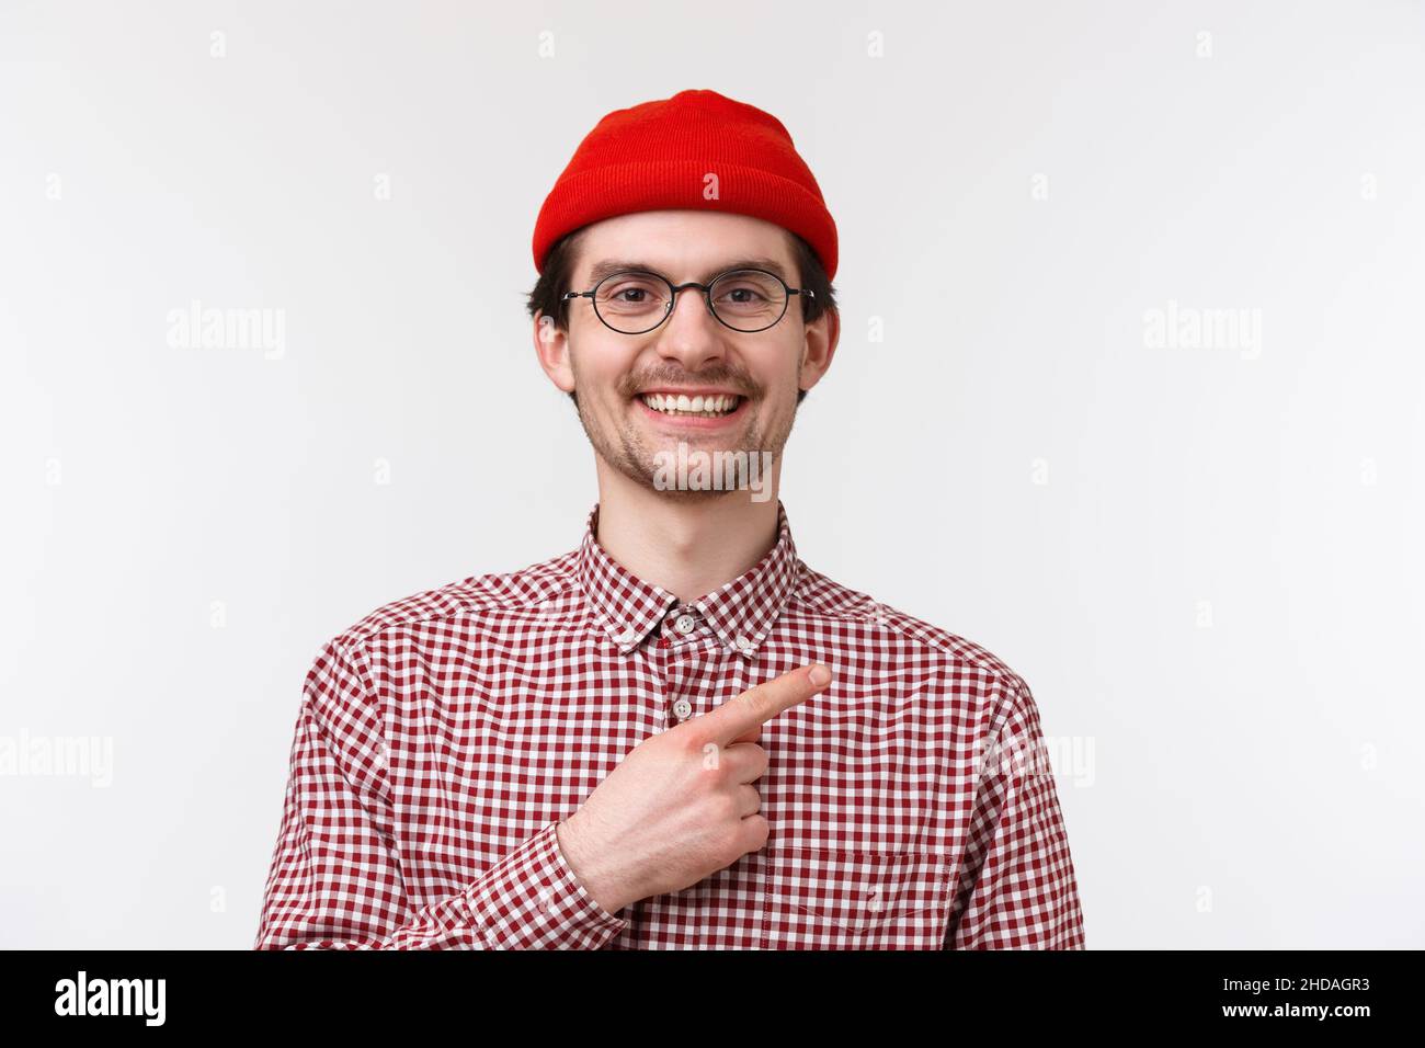
[{"label": "plain white studio background behind the man", "polygon": [[[0,737],[113,769],[0,777],[0,944],[251,945],[322,642],[577,543],[534,217],[603,114],[705,87],[841,230],[799,553],[1030,683],[1089,947],[1425,945],[1422,43],[1419,3],[7,0]],[[171,346],[194,299],[284,354]],[[1170,301],[1260,352],[1154,348]]]}]

